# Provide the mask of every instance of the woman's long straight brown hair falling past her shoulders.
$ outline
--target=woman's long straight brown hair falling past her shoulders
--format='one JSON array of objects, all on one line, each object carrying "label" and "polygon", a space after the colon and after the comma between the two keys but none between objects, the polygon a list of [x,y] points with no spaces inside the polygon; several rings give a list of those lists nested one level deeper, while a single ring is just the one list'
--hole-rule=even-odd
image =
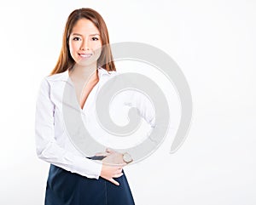
[{"label": "woman's long straight brown hair falling past her shoulders", "polygon": [[102,54],[97,60],[97,65],[101,65],[102,68],[106,69],[107,71],[116,71],[113,62],[113,55],[109,46],[108,28],[105,21],[103,20],[101,14],[97,13],[94,9],[82,8],[74,10],[67,18],[62,39],[61,54],[55,68],[50,73],[51,75],[67,71],[67,69],[72,69],[73,65],[75,64],[75,61],[69,52],[68,40],[73,30],[73,26],[75,26],[78,20],[83,18],[90,20],[100,31],[100,36],[102,39]]}]

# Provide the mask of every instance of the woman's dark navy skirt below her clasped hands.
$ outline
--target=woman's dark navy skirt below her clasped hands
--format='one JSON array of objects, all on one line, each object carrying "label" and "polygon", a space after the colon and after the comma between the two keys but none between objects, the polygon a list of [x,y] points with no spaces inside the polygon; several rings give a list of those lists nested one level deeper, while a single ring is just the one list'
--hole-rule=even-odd
[{"label": "woman's dark navy skirt below her clasped hands", "polygon": [[106,179],[89,179],[51,164],[45,205],[134,205],[128,181],[123,174],[113,185]]}]

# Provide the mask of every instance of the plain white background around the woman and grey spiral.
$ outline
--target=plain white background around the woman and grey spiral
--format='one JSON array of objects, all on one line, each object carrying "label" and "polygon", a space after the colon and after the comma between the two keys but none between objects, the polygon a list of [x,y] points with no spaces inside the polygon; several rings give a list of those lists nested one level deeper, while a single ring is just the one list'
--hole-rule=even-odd
[{"label": "plain white background around the woman and grey spiral", "polygon": [[1,1],[0,204],[44,202],[49,164],[35,152],[35,101],[67,16],[81,7],[102,14],[111,43],[149,43],[170,54],[193,95],[183,146],[170,155],[167,138],[126,168],[136,204],[256,204],[253,0]]}]

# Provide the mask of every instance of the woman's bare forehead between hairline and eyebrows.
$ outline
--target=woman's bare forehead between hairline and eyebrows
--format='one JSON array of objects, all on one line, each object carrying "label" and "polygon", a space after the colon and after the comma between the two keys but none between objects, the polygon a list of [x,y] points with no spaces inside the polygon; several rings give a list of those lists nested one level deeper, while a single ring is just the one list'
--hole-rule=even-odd
[{"label": "woman's bare forehead between hairline and eyebrows", "polygon": [[92,21],[83,18],[75,23],[71,33],[87,34],[100,33],[100,31],[97,29],[94,23],[92,23]]}]

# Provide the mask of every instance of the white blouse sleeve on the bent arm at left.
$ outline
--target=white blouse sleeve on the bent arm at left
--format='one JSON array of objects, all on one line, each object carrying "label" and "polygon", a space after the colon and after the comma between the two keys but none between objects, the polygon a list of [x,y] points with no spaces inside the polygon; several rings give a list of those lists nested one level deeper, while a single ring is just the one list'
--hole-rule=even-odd
[{"label": "white blouse sleeve on the bent arm at left", "polygon": [[88,178],[98,179],[102,163],[93,162],[64,149],[57,143],[55,136],[55,104],[50,100],[50,85],[44,78],[38,92],[35,116],[35,137],[38,157],[67,171]]}]

